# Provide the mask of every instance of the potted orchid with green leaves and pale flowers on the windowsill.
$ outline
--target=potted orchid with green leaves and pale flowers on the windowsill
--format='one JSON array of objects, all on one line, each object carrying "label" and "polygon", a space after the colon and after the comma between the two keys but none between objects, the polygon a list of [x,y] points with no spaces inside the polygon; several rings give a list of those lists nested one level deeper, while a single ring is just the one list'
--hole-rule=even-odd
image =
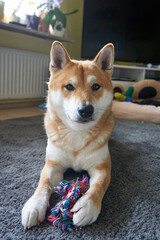
[{"label": "potted orchid with green leaves and pale flowers on the windowsill", "polygon": [[44,22],[49,24],[50,33],[54,35],[64,35],[66,29],[67,16],[77,13],[78,9],[65,13],[60,10],[60,4],[63,0],[53,0],[51,2],[42,3],[38,9],[43,8]]}]

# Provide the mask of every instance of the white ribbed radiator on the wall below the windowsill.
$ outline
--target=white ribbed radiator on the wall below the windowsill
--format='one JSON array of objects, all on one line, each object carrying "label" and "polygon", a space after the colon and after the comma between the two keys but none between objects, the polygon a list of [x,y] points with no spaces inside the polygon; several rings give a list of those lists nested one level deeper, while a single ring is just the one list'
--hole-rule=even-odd
[{"label": "white ribbed radiator on the wall below the windowsill", "polygon": [[0,99],[46,95],[49,55],[0,47]]}]

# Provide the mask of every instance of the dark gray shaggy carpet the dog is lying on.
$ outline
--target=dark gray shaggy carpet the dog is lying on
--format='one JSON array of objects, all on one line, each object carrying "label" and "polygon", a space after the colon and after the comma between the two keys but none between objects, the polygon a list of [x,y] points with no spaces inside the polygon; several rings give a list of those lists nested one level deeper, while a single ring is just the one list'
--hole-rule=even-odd
[{"label": "dark gray shaggy carpet the dog is lying on", "polygon": [[[43,119],[0,121],[0,239],[160,239],[160,125],[117,120],[109,145],[112,181],[98,220],[72,233],[47,221],[25,231],[21,209],[44,164]],[[65,178],[78,175],[69,170]],[[57,201],[54,193],[51,206]]]}]

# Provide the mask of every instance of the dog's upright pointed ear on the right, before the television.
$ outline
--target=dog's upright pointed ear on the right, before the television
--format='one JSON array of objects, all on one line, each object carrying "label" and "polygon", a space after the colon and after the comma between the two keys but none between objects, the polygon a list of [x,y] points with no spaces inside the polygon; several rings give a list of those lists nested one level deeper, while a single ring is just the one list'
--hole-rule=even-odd
[{"label": "dog's upright pointed ear on the right, before the television", "polygon": [[93,60],[103,71],[113,70],[114,46],[112,43],[105,45]]}]

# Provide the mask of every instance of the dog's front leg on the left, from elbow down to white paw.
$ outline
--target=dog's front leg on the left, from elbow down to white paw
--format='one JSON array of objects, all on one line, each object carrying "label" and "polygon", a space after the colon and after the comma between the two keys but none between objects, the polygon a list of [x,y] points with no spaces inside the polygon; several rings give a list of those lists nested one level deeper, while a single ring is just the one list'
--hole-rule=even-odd
[{"label": "dog's front leg on the left, from elbow down to white paw", "polygon": [[39,185],[22,209],[22,224],[25,229],[35,226],[45,219],[52,189],[62,180],[63,172],[64,168],[58,162],[46,158]]}]

